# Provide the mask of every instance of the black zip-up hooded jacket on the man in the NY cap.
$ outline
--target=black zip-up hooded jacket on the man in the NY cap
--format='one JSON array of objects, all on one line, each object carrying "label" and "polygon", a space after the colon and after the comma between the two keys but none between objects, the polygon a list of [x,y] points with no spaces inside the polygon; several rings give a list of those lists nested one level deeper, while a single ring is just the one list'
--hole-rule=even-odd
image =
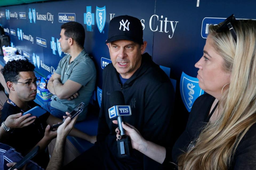
[{"label": "black zip-up hooded jacket on the man in the NY cap", "polygon": [[[133,150],[130,158],[118,159],[115,129],[117,125],[109,118],[109,96],[115,91],[123,92],[125,104],[131,106],[131,116],[123,117],[139,130],[149,141],[162,146],[170,146],[172,115],[174,107],[174,88],[169,77],[151,60],[148,53],[142,55],[141,66],[123,85],[119,73],[113,64],[103,70],[102,101],[99,113],[97,142],[105,143],[114,156],[113,160],[121,162],[126,168],[152,169],[162,165]],[[136,165],[133,167],[133,165]],[[122,169],[122,167],[120,167]]]}]

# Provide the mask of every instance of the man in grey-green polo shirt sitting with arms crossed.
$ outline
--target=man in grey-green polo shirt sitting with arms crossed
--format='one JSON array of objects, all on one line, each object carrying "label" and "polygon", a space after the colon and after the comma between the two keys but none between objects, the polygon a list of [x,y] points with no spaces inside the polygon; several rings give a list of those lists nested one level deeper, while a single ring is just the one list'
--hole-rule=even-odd
[{"label": "man in grey-green polo shirt sitting with arms crossed", "polygon": [[96,82],[94,62],[83,48],[85,29],[78,22],[67,22],[61,25],[60,37],[61,50],[69,55],[61,59],[48,82],[47,88],[54,96],[44,108],[62,119],[66,111],[71,112],[83,102],[78,120],[84,120]]}]

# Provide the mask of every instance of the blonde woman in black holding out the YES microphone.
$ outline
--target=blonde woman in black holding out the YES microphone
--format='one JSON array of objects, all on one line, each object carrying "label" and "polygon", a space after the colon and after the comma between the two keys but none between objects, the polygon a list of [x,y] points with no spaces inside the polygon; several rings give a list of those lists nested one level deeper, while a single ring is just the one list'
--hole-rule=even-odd
[{"label": "blonde woman in black holding out the YES microphone", "polygon": [[173,148],[146,141],[123,124],[133,148],[183,170],[256,169],[256,21],[231,15],[210,25],[195,67],[207,94],[193,104],[186,130]]}]

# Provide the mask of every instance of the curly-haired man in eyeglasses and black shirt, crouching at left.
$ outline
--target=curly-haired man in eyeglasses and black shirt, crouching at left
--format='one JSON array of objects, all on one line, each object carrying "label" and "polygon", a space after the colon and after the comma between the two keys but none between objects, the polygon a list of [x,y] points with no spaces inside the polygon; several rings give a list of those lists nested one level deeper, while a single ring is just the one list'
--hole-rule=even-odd
[{"label": "curly-haired man in eyeglasses and black shirt, crouching at left", "polygon": [[[2,109],[1,126],[8,135],[5,138],[7,140],[6,144],[14,147],[22,155],[26,155],[34,146],[39,145],[41,152],[39,156],[35,157],[35,162],[46,168],[49,162],[49,153],[48,150],[45,151],[45,148],[57,135],[57,131],[50,131],[50,125],[62,122],[62,120],[47,112],[38,118],[33,116],[36,120],[23,128],[11,129],[7,123],[5,124],[8,116],[20,112],[24,113],[38,106],[33,101],[37,94],[37,83],[39,83],[33,72],[34,68],[35,66],[27,60],[13,60],[7,62],[1,69],[9,88],[9,99]],[[90,141],[90,136],[75,128],[71,130],[69,135]]]}]

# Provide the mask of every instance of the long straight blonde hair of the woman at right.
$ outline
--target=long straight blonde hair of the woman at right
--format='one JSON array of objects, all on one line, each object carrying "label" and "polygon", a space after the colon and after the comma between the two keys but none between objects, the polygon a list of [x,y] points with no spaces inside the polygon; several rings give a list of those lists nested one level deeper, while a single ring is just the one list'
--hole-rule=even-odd
[{"label": "long straight blonde hair of the woman at right", "polygon": [[232,25],[237,42],[228,29],[216,32],[220,24],[209,26],[208,37],[223,57],[223,69],[231,72],[229,89],[219,100],[223,111],[205,126],[195,147],[179,156],[179,169],[228,169],[239,142],[256,122],[256,21]]}]

